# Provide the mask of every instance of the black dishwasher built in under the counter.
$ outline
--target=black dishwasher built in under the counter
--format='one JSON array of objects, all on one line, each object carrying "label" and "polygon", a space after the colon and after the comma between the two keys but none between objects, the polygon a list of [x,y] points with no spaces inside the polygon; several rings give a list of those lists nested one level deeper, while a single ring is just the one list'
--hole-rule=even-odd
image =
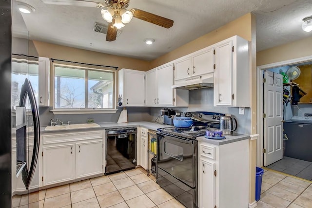
[{"label": "black dishwasher built in under the counter", "polygon": [[105,175],[137,166],[137,127],[106,130]]}]

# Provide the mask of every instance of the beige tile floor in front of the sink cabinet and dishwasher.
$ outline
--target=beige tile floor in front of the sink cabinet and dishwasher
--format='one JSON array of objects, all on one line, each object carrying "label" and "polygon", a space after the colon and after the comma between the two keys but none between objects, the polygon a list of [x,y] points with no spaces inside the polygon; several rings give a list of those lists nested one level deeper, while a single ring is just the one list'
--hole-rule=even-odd
[{"label": "beige tile floor in front of the sink cabinet and dishwasher", "polygon": [[[40,190],[29,202],[29,208],[184,208],[142,168]],[[28,208],[26,195],[12,203]]]}]

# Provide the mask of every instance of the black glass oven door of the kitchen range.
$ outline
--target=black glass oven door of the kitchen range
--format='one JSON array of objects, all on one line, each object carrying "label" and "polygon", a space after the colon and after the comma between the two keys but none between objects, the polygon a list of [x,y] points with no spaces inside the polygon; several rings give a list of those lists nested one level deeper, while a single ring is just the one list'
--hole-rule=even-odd
[{"label": "black glass oven door of the kitchen range", "polygon": [[195,188],[196,141],[160,133],[157,133],[157,140],[157,167]]}]

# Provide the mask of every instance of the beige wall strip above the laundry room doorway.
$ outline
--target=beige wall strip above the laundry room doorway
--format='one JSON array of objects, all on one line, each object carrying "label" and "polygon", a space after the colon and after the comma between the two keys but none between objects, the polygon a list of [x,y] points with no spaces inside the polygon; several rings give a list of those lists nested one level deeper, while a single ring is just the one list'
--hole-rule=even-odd
[{"label": "beige wall strip above the laundry room doorway", "polygon": [[312,37],[276,46],[257,53],[257,66],[312,55]]}]

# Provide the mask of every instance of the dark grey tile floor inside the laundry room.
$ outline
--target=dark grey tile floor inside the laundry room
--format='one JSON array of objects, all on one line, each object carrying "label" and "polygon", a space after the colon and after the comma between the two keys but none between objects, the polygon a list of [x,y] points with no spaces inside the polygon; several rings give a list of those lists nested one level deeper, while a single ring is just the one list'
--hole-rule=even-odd
[{"label": "dark grey tile floor inside the laundry room", "polygon": [[312,181],[312,162],[309,161],[284,156],[267,168]]}]

